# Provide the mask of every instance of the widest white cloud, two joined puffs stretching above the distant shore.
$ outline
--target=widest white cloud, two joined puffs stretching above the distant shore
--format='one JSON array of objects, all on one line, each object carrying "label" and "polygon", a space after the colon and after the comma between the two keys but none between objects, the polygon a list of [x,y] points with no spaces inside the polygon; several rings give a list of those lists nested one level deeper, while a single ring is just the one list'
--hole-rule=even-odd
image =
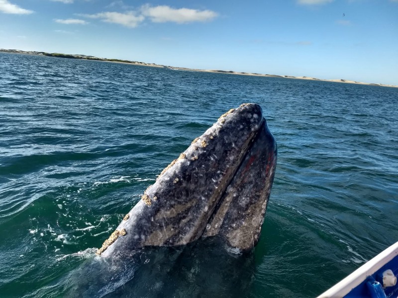
[{"label": "widest white cloud, two joined puffs stretching above the distant shore", "polygon": [[138,10],[129,10],[125,12],[107,11],[96,14],[81,14],[81,16],[98,18],[104,22],[120,24],[130,28],[137,27],[146,18],[154,23],[174,22],[183,24],[210,21],[217,15],[216,12],[211,10],[189,8],[176,9],[166,5],[150,6],[149,4],[142,5]]}]

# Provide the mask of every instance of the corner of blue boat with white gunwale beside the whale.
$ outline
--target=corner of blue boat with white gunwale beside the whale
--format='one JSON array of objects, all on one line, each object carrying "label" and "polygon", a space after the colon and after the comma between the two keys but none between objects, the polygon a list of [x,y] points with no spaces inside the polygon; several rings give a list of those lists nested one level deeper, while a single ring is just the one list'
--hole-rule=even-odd
[{"label": "corner of blue boat with white gunwale beside the whale", "polygon": [[318,298],[397,298],[398,242]]}]

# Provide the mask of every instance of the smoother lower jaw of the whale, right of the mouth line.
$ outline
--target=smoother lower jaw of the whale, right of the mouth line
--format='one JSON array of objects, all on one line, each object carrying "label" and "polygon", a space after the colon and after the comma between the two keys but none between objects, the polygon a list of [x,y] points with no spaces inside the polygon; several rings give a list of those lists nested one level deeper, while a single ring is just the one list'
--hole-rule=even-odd
[{"label": "smoother lower jaw of the whale, right of the mouth line", "polygon": [[260,237],[276,165],[276,142],[264,119],[202,237],[220,235],[231,247],[253,248]]}]

